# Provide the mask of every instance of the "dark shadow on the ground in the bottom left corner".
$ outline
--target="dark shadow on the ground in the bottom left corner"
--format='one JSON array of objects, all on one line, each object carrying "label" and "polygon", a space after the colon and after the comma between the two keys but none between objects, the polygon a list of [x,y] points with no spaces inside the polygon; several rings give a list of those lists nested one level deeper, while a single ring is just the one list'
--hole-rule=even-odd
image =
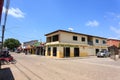
[{"label": "dark shadow on the ground in the bottom left corner", "polygon": [[15,80],[10,68],[0,69],[0,80]]}]

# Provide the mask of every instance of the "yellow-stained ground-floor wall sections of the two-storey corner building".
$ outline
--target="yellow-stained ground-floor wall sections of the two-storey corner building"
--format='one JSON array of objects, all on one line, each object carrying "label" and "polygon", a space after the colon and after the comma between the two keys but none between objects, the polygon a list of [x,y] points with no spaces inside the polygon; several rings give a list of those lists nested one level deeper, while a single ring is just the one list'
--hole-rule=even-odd
[{"label": "yellow-stained ground-floor wall sections of the two-storey corner building", "polygon": [[[58,58],[64,58],[64,47],[62,46],[55,46],[57,47],[57,56]],[[46,47],[46,56],[49,56],[47,54],[47,48]],[[74,57],[74,48],[75,47],[70,47],[70,57]],[[85,56],[95,56],[96,55],[96,49],[99,49],[101,51],[102,49],[107,49],[107,47],[100,47],[100,46],[79,46],[79,56],[80,57],[85,57]],[[51,57],[53,56],[53,46],[51,46]]]}]

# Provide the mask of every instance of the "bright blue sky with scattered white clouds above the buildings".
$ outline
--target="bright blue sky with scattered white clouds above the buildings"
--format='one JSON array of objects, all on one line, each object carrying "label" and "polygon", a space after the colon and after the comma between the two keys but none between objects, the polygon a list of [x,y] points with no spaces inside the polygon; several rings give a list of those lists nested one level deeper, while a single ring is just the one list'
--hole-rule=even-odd
[{"label": "bright blue sky with scattered white clouds above the buildings", "polygon": [[120,39],[120,0],[10,0],[5,39],[45,42],[45,34],[69,28]]}]

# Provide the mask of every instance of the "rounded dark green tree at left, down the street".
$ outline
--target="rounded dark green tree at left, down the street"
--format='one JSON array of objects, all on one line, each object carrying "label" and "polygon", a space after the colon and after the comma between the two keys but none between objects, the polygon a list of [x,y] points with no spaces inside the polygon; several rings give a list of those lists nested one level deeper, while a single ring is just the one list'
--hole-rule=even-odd
[{"label": "rounded dark green tree at left, down the street", "polygon": [[14,50],[14,48],[19,47],[21,44],[19,42],[19,40],[14,39],[14,38],[8,38],[5,39],[4,41],[4,47],[9,48],[10,50]]}]

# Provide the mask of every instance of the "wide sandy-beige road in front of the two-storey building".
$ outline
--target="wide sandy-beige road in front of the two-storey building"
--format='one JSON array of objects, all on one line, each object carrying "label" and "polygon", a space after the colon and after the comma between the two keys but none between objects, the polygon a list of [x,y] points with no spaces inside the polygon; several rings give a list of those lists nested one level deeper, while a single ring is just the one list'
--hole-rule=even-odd
[{"label": "wide sandy-beige road in front of the two-storey building", "polygon": [[17,63],[2,67],[10,67],[15,80],[120,80],[120,60],[11,54]]}]

